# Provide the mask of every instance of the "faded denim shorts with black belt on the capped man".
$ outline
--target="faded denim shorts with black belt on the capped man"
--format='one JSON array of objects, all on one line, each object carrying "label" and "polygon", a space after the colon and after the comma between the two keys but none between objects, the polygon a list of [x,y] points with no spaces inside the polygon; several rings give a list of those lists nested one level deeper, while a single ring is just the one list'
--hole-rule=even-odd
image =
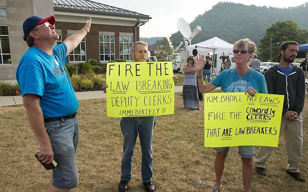
[{"label": "faded denim shorts with black belt on the capped man", "polygon": [[78,118],[58,120],[45,123],[54,152],[54,160],[58,163],[52,170],[52,185],[59,189],[72,189],[78,186],[78,170],[76,152],[79,139]]}]

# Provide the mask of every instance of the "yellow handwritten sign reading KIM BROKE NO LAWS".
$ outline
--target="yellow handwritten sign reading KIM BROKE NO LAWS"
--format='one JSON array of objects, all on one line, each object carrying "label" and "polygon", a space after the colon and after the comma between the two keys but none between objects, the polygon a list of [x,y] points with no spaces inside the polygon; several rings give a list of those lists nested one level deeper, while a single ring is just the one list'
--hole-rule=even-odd
[{"label": "yellow handwritten sign reading KIM BROKE NO LAWS", "polygon": [[283,95],[204,94],[204,146],[278,146]]}]

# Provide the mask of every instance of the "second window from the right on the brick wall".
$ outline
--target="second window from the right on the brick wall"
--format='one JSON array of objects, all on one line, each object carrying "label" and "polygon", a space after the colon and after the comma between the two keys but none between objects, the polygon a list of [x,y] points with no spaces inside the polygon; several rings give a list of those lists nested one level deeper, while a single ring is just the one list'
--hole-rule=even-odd
[{"label": "second window from the right on the brick wall", "polygon": [[115,59],[115,37],[99,35],[100,61],[112,61]]}]

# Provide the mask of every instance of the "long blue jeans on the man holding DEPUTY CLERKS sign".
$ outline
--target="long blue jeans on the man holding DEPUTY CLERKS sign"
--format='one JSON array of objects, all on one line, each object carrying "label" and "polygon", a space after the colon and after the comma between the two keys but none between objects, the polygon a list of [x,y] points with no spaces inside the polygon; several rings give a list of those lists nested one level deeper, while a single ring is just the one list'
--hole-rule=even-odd
[{"label": "long blue jeans on the man holding DEPUTY CLERKS sign", "polygon": [[132,160],[134,148],[139,133],[141,145],[141,178],[143,182],[150,182],[153,178],[153,130],[155,116],[123,117],[120,122],[123,133],[123,155],[121,162],[121,179],[129,181],[132,176]]}]

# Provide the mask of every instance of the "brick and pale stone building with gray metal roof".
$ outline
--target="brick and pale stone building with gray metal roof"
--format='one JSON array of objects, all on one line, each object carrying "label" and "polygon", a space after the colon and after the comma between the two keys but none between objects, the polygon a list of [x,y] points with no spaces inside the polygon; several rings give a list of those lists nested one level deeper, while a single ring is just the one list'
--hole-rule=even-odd
[{"label": "brick and pale stone building with gray metal roof", "polygon": [[59,34],[57,44],[80,30],[89,17],[91,30],[67,61],[73,63],[96,59],[101,64],[114,59],[132,60],[130,46],[139,41],[139,26],[151,19],[102,3],[83,0],[2,0],[0,1],[0,80],[15,79],[16,68],[29,48],[22,40],[23,21],[38,15],[54,15]]}]

